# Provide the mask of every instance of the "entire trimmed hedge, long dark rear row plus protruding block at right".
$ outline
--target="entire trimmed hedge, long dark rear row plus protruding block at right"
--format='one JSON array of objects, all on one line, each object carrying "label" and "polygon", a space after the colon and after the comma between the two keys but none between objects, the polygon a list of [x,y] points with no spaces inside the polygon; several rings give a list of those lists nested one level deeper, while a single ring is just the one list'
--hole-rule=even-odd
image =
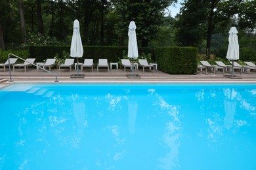
[{"label": "entire trimmed hedge, long dark rear row plus protruding block at right", "polygon": [[[83,62],[85,58],[95,59],[106,58],[109,62],[118,62],[123,58],[123,51],[127,54],[127,46],[83,46]],[[58,53],[60,58],[62,52],[70,52],[70,46],[30,46],[30,58],[36,58],[37,62],[47,58],[54,58]],[[160,71],[169,74],[194,74],[197,69],[198,49],[192,47],[160,47],[160,48],[139,48],[139,55],[142,53],[152,54],[152,59],[158,63]]]}]

